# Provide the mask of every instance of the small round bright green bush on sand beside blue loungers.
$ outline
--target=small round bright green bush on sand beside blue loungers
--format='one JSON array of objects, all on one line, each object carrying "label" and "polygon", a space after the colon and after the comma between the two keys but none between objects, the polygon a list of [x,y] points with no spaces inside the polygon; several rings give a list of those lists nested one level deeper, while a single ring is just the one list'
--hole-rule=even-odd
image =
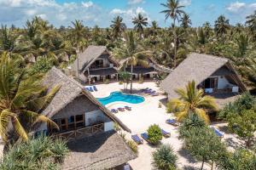
[{"label": "small round bright green bush on sand beside blue loungers", "polygon": [[162,138],[163,138],[163,134],[158,125],[154,124],[148,127],[148,141],[151,144],[159,144]]}]

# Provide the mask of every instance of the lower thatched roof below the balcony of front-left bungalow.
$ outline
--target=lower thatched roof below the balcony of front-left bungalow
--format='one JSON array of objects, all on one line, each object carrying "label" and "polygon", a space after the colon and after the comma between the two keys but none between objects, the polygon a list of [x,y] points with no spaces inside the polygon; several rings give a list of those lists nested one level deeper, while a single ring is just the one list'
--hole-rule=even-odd
[{"label": "lower thatched roof below the balcony of front-left bungalow", "polygon": [[65,170],[109,169],[137,157],[119,134],[113,131],[69,141],[67,146],[70,154],[62,167]]}]

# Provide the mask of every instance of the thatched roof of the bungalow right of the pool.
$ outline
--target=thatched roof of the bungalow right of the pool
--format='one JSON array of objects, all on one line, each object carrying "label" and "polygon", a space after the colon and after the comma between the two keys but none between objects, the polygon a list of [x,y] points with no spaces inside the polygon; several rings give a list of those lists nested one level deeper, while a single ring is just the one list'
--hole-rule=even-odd
[{"label": "thatched roof of the bungalow right of the pool", "polygon": [[[230,64],[229,59],[224,59],[208,54],[189,54],[187,59],[177,66],[177,68],[170,73],[168,77],[160,84],[160,87],[166,91],[169,98],[177,98],[175,89],[185,88],[189,81],[194,80],[196,85],[205,81],[208,77],[214,74],[219,74],[222,69],[228,68],[229,73],[233,73],[231,78],[241,88],[242,91],[246,91],[247,88],[241,82],[241,78],[236,73],[233,66]],[[225,71],[224,74],[227,74]]]}]

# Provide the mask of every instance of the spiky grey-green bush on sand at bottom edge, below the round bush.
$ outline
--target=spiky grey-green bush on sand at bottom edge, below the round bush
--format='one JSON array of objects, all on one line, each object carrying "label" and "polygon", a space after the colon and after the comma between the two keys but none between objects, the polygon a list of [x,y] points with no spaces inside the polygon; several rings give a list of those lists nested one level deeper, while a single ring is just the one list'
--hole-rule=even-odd
[{"label": "spiky grey-green bush on sand at bottom edge, below the round bush", "polygon": [[160,170],[175,170],[177,167],[177,156],[173,153],[169,144],[163,144],[152,154],[154,167]]}]

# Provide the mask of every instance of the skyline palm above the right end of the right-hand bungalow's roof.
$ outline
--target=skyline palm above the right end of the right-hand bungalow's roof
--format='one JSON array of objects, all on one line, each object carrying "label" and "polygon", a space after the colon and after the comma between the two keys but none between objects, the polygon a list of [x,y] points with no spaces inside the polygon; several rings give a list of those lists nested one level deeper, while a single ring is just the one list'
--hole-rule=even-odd
[{"label": "skyline palm above the right end of the right-hand bungalow's roof", "polygon": [[230,29],[230,20],[227,20],[224,15],[220,15],[218,20],[215,21],[215,32],[218,37],[221,37],[222,44],[224,44],[224,34]]}]

